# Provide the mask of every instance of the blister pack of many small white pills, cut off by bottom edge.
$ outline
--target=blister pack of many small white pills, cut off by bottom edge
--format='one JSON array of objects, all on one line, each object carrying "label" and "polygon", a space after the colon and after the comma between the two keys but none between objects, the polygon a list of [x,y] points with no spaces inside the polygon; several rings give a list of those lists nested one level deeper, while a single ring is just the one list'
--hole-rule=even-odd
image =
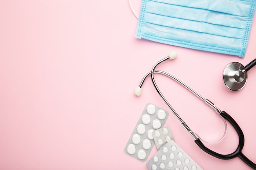
[{"label": "blister pack of many small white pills, cut off by bottom edge", "polygon": [[169,141],[146,163],[149,170],[202,170],[174,141]]}]

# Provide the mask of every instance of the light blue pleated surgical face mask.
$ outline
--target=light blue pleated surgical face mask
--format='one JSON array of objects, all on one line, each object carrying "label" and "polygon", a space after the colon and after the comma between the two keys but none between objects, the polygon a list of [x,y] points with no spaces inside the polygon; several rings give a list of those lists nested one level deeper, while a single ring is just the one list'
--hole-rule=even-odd
[{"label": "light blue pleated surgical face mask", "polygon": [[142,0],[136,37],[245,56],[256,0]]}]

